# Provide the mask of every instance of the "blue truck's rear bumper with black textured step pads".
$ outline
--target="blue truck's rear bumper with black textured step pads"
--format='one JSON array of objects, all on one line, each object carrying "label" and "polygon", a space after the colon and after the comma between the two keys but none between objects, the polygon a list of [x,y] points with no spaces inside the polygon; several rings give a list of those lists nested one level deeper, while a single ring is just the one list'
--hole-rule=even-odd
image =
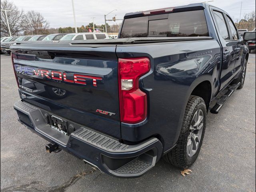
[{"label": "blue truck's rear bumper with black textured step pads", "polygon": [[14,109],[20,123],[27,128],[112,176],[141,176],[153,168],[162,156],[162,143],[155,137],[136,145],[127,145],[84,126],[66,136],[47,124],[44,115],[48,112],[21,100],[14,104]]}]

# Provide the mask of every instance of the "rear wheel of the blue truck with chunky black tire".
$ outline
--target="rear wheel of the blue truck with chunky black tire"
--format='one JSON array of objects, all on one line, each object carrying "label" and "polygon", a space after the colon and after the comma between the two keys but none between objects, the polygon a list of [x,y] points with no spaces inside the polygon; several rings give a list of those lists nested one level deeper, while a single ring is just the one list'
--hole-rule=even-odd
[{"label": "rear wheel of the blue truck with chunky black tire", "polygon": [[[202,114],[203,118],[201,120],[201,128],[200,130],[197,130],[197,135],[199,135],[199,132],[201,132],[200,140],[199,142],[196,142],[195,146],[197,146],[197,150],[194,151],[194,146],[191,148],[191,140],[194,138],[194,136],[192,137],[192,129],[194,129],[194,126],[192,125],[195,122],[195,116],[197,116],[196,114],[198,113]],[[168,154],[164,155],[164,160],[179,168],[188,168],[195,162],[204,139],[206,114],[207,110],[204,100],[201,97],[191,95],[186,106],[182,128],[180,130],[180,136],[176,146]],[[193,132],[193,134],[196,135],[196,132]],[[196,139],[194,141],[196,141]]]}]

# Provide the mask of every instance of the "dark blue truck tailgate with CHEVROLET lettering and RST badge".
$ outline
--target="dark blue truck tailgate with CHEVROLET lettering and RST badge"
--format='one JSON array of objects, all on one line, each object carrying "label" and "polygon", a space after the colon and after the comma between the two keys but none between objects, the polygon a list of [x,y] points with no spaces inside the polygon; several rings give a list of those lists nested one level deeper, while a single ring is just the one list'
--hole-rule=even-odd
[{"label": "dark blue truck tailgate with CHEVROLET lettering and RST badge", "polygon": [[22,100],[120,138],[116,46],[12,46]]}]

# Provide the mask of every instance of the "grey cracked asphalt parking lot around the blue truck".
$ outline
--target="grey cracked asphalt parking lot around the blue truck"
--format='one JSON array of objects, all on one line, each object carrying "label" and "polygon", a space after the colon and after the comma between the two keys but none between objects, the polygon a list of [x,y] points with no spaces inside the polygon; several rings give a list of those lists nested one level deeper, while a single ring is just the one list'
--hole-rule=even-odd
[{"label": "grey cracked asphalt parking lot around the blue truck", "polygon": [[160,160],[140,178],[94,171],[66,152],[48,154],[48,142],[17,121],[19,100],[9,55],[1,55],[1,192],[255,191],[255,52],[244,88],[219,114],[208,114],[204,143],[187,176]]}]

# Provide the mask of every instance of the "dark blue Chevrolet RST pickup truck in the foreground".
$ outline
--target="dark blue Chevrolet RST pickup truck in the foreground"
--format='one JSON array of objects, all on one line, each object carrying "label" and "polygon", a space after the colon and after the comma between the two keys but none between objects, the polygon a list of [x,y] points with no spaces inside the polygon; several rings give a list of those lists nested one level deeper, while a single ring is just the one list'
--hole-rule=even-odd
[{"label": "dark blue Chevrolet RST pickup truck in the foreground", "polygon": [[10,49],[19,122],[49,141],[47,152],[121,178],[161,157],[192,165],[207,113],[243,87],[248,61],[230,16],[204,3],[128,13],[118,39]]}]

